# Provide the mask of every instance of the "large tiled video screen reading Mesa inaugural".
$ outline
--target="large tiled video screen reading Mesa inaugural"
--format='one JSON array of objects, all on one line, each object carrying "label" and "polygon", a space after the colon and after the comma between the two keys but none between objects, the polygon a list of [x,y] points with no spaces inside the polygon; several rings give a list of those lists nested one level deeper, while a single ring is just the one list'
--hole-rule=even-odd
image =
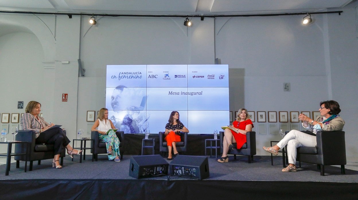
[{"label": "large tiled video screen reading Mesa inaugural", "polygon": [[189,133],[229,125],[228,65],[107,65],[108,118],[125,133],[165,131],[171,111]]}]

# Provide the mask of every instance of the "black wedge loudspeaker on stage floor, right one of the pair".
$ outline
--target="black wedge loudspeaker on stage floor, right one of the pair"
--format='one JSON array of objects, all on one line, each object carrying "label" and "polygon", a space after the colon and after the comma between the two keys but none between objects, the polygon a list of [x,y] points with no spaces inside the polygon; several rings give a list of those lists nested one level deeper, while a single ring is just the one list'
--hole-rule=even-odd
[{"label": "black wedge loudspeaker on stage floor, right one of the pair", "polygon": [[169,164],[171,175],[191,179],[205,179],[209,177],[209,162],[206,156],[178,155]]}]

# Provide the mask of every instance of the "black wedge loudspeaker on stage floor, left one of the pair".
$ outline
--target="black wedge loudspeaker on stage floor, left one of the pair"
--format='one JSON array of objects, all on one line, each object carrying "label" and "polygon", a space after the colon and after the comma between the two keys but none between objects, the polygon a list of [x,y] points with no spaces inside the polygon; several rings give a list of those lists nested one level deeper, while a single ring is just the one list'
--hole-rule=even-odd
[{"label": "black wedge loudspeaker on stage floor, left one of the pair", "polygon": [[132,156],[129,175],[136,179],[167,175],[168,167],[168,162],[160,155]]}]

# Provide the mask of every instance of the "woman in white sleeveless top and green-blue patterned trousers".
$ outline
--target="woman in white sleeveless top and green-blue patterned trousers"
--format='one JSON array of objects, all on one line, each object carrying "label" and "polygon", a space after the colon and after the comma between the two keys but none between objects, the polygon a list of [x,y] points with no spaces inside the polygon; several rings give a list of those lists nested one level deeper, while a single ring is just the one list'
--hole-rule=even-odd
[{"label": "woman in white sleeveless top and green-blue patterned trousers", "polygon": [[99,138],[103,142],[106,142],[106,148],[107,148],[107,154],[108,154],[108,160],[113,160],[116,162],[120,162],[121,159],[119,158],[119,139],[116,135],[116,133],[110,129],[115,129],[112,121],[108,119],[108,109],[107,108],[101,108],[100,112],[98,112],[98,117],[95,122],[95,124],[92,126],[91,131],[98,131]]}]

